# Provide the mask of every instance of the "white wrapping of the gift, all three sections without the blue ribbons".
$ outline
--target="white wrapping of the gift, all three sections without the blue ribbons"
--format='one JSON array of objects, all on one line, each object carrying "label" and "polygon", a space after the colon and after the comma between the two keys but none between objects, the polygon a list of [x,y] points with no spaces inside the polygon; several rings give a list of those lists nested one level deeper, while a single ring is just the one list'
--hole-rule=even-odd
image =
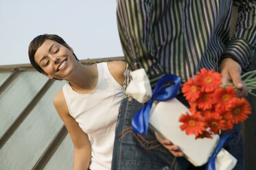
[{"label": "white wrapping of the gift, all three sections without the blue ribbons", "polygon": [[[152,96],[150,82],[144,69],[132,71],[132,81],[126,88],[126,94],[140,103],[146,103]],[[187,135],[181,131],[178,119],[181,114],[189,112],[178,99],[173,98],[167,101],[154,101],[150,110],[149,123],[161,136],[169,139],[178,145],[185,154],[185,157],[194,166],[201,166],[208,162],[213,154],[220,137],[216,134],[213,138],[198,138],[194,135]],[[237,160],[225,149],[221,149],[216,157],[216,169],[233,169]]]}]

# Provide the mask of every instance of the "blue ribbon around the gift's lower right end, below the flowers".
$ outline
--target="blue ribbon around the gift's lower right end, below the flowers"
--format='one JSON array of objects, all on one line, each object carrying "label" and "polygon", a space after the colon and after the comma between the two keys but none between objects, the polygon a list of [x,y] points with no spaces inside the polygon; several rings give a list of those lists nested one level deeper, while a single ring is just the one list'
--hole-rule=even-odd
[{"label": "blue ribbon around the gift's lower right end, below the flowers", "polygon": [[215,167],[216,157],[217,157],[218,153],[220,152],[220,150],[222,149],[223,145],[226,143],[226,141],[231,139],[230,138],[231,134],[235,134],[235,133],[229,133],[220,138],[220,141],[219,141],[215,151],[213,152],[212,156],[208,160],[207,167],[205,170],[216,170],[216,167]]}]

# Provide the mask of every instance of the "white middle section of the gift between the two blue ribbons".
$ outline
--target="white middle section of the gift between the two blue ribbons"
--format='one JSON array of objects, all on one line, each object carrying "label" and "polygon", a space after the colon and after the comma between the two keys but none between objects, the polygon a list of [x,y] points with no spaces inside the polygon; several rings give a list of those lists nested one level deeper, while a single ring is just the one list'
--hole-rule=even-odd
[{"label": "white middle section of the gift between the two blue ribbons", "polygon": [[213,138],[198,138],[187,135],[181,131],[178,122],[181,114],[189,112],[181,101],[173,98],[167,101],[154,101],[150,111],[150,126],[164,138],[178,145],[185,154],[185,158],[194,166],[205,165],[213,154],[220,137],[218,134]]}]

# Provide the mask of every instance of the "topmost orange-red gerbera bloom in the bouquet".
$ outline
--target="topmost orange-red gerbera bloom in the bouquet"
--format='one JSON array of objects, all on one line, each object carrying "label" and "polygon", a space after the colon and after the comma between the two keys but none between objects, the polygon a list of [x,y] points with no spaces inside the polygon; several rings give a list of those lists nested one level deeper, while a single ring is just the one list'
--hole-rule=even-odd
[{"label": "topmost orange-red gerbera bloom in the bouquet", "polygon": [[212,92],[222,84],[220,73],[214,72],[213,69],[207,71],[205,68],[198,72],[196,81],[201,86],[200,90],[207,93]]}]

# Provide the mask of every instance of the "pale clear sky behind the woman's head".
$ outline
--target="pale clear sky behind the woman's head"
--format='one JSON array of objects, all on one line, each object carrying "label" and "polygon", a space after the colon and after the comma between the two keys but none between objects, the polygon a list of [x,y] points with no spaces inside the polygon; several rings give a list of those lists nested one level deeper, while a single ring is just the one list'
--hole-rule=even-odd
[{"label": "pale clear sky behind the woman's head", "polygon": [[39,34],[58,34],[80,60],[124,56],[115,0],[0,0],[0,65],[30,63]]}]

